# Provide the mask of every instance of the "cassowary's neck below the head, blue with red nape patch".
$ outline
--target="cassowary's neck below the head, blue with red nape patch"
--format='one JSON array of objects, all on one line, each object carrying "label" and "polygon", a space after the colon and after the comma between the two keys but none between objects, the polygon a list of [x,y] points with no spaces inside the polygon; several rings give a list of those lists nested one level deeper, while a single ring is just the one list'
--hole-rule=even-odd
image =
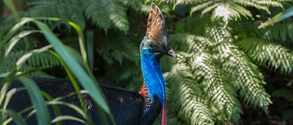
[{"label": "cassowary's neck below the head, blue with red nape patch", "polygon": [[141,54],[141,68],[144,83],[139,94],[145,98],[144,115],[153,103],[154,96],[159,98],[161,107],[163,107],[163,103],[166,100],[166,84],[159,63],[160,57],[151,59]]}]

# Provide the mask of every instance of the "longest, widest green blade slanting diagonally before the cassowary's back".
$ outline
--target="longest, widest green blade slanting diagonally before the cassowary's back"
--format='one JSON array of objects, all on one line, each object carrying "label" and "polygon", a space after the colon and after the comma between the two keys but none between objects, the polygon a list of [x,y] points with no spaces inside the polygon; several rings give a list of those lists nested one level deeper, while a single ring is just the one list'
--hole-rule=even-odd
[{"label": "longest, widest green blade slanting diagonally before the cassowary's back", "polygon": [[[23,20],[25,19],[27,18],[23,18]],[[101,106],[103,110],[105,110],[105,112],[110,113],[110,109],[103,97],[101,89],[98,86],[96,80],[93,79],[91,75],[88,74],[76,60],[72,59],[74,56],[65,49],[65,45],[53,34],[53,32],[45,23],[34,19],[32,19],[32,21],[37,24],[37,26],[43,31],[47,40],[53,45],[54,50],[64,60],[65,64],[76,76],[81,85],[89,91],[89,94],[93,98],[93,100],[99,106]]]}]

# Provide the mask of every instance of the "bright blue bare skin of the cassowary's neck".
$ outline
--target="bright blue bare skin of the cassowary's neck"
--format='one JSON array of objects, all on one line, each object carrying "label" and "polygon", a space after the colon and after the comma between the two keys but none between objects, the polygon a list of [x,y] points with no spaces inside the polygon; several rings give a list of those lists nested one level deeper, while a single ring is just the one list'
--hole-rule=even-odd
[{"label": "bright blue bare skin of the cassowary's neck", "polygon": [[140,44],[142,75],[151,100],[153,100],[154,95],[158,96],[162,106],[166,99],[166,84],[160,67],[161,56],[149,52],[150,48],[147,46],[149,41],[148,38],[144,37]]}]

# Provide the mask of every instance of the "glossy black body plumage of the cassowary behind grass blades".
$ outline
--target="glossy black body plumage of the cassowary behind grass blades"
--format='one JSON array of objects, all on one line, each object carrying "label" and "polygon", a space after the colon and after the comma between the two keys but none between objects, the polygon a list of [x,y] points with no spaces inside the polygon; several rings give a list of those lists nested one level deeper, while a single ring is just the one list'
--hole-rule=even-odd
[{"label": "glossy black body plumage of the cassowary behind grass blades", "polygon": [[[70,80],[68,79],[59,79],[59,78],[32,78],[35,83],[38,85],[40,90],[47,92],[53,98],[67,95],[71,92],[74,92],[74,87]],[[0,82],[3,78],[0,78]],[[23,85],[18,80],[13,80],[10,86],[10,89],[22,87]],[[81,87],[81,86],[80,86]],[[161,105],[159,99],[155,96],[153,105],[149,109],[149,112],[142,118],[143,115],[143,105],[144,98],[142,95],[138,94],[137,91],[130,91],[120,87],[113,87],[108,85],[100,84],[100,87],[104,93],[115,122],[118,125],[149,125],[153,124],[156,117],[161,112]],[[82,89],[82,87],[81,87]],[[100,117],[98,115],[98,110],[96,105],[91,97],[87,94],[83,94],[86,107],[88,109],[88,115],[91,117],[95,124],[102,124]],[[77,95],[65,98],[62,101],[66,101],[75,105],[80,106],[80,101]],[[28,93],[25,90],[18,91],[11,98],[8,109],[15,110],[19,112],[25,108],[31,106],[31,102],[28,96]],[[68,108],[63,105],[59,105],[62,115],[71,115],[80,119],[83,119],[81,115],[75,110]],[[48,105],[50,114],[52,118],[55,117],[54,110],[51,105]],[[28,113],[24,113],[25,117]],[[123,116],[123,117],[121,117]],[[111,124],[110,118],[108,117],[108,123]],[[26,120],[28,124],[37,124],[37,119],[35,115]],[[78,125],[82,124],[73,120],[64,120],[63,124],[65,125]]]}]

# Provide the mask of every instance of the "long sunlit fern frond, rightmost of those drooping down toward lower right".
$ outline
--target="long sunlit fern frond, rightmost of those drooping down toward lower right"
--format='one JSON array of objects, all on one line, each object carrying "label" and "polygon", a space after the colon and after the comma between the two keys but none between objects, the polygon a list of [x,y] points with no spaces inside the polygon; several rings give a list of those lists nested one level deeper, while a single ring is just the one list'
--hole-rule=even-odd
[{"label": "long sunlit fern frond, rightmost of those drooping down toward lower right", "polygon": [[215,49],[223,59],[224,71],[233,73],[232,83],[240,89],[240,97],[254,106],[263,108],[267,113],[267,106],[272,103],[265,92],[263,74],[252,64],[246,55],[233,45],[231,34],[221,27],[212,27],[206,31],[214,41],[220,41]]}]

